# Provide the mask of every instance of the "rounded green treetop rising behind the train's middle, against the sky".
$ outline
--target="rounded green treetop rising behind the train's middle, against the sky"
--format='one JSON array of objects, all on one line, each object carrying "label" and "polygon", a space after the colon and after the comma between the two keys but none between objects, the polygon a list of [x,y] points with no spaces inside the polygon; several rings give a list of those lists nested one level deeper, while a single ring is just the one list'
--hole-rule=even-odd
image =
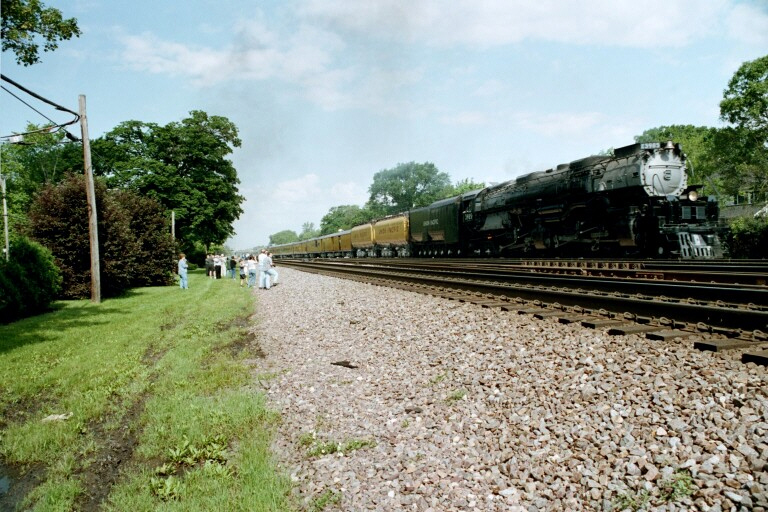
[{"label": "rounded green treetop rising behind the train's middle, against the sky", "polygon": [[368,207],[390,215],[426,206],[440,199],[450,184],[448,174],[439,172],[433,163],[398,164],[373,175],[373,183],[368,189]]}]

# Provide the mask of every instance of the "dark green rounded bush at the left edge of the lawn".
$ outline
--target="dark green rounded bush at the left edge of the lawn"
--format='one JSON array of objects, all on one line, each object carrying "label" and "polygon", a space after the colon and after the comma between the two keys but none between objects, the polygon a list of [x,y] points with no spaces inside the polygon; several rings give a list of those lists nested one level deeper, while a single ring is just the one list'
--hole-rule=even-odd
[{"label": "dark green rounded bush at the left edge of the lawn", "polygon": [[10,260],[0,262],[0,321],[48,309],[60,290],[61,275],[51,252],[28,238],[16,238]]}]

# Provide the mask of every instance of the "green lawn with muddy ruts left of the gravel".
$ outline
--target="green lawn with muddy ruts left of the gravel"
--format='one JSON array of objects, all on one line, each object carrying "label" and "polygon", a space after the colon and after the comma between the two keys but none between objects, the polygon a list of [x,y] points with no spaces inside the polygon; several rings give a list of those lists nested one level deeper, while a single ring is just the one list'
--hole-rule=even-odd
[{"label": "green lawn with muddy ruts left of the gravel", "polygon": [[269,452],[279,417],[243,364],[259,351],[243,327],[253,301],[195,271],[189,290],[62,302],[0,326],[0,468],[36,484],[15,505],[295,510]]}]

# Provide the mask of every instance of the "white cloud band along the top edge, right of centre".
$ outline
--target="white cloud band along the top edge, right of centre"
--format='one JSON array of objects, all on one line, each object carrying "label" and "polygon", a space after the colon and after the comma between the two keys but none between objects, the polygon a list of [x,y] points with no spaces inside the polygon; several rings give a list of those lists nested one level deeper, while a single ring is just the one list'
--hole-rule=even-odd
[{"label": "white cloud band along the top edge, right of centre", "polygon": [[524,40],[628,47],[680,46],[716,33],[725,0],[308,0],[302,14],[336,30],[435,46]]}]

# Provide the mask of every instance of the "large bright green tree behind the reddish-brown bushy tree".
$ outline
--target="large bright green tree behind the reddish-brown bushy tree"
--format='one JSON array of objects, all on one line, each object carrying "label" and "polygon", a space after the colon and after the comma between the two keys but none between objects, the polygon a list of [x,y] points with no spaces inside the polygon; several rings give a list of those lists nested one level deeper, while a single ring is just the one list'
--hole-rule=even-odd
[{"label": "large bright green tree behind the reddish-brown bushy tree", "polygon": [[127,121],[93,145],[94,172],[110,186],[157,199],[176,216],[184,248],[223,244],[244,201],[232,162],[240,147],[237,127],[225,117],[192,111],[180,123],[158,126]]}]

